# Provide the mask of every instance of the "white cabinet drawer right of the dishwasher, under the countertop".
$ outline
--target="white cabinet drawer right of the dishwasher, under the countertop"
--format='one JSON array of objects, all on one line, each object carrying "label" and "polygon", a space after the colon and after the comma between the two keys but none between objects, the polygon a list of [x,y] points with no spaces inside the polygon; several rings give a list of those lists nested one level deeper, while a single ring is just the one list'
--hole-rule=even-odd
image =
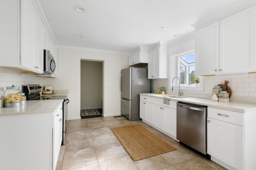
[{"label": "white cabinet drawer right of the dishwasher, under the countertop", "polygon": [[244,113],[208,107],[207,117],[244,126]]}]

